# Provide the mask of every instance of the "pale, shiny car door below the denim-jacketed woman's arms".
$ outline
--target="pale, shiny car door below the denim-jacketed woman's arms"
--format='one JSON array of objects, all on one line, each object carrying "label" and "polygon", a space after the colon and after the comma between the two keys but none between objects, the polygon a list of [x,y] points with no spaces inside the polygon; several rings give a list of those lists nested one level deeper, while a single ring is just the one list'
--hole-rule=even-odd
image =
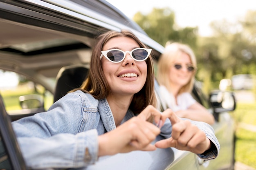
[{"label": "pale, shiny car door below the denim-jacketed woman's arms", "polygon": [[[158,136],[155,141],[163,137]],[[155,142],[154,141],[154,142]],[[153,142],[153,143],[154,143]],[[79,170],[198,170],[195,154],[175,148],[155,151],[132,151],[100,157],[94,165]]]}]

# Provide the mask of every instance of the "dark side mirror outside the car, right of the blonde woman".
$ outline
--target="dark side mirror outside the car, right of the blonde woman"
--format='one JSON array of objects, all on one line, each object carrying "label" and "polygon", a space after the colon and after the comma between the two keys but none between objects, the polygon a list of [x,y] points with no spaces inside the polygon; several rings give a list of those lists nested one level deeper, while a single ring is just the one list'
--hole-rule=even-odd
[{"label": "dark side mirror outside the car, right of the blonde woman", "polygon": [[214,113],[221,113],[236,109],[235,96],[231,91],[213,91],[211,92],[209,99]]}]

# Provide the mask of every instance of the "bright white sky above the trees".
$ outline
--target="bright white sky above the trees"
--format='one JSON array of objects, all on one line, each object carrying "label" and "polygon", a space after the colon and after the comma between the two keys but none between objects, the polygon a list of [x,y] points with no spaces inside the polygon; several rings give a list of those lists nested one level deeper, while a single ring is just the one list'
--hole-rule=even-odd
[{"label": "bright white sky above the trees", "polygon": [[235,22],[248,10],[256,11],[256,0],[107,0],[132,19],[138,11],[150,13],[152,9],[169,7],[175,12],[180,27],[198,26],[202,36],[212,35],[209,24],[215,20]]}]

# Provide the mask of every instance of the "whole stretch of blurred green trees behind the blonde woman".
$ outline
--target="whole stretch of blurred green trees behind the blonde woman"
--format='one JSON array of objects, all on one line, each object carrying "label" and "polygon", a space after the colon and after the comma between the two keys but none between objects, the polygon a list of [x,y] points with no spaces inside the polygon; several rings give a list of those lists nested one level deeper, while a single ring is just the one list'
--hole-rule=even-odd
[{"label": "whole stretch of blurred green trees behind the blonde woman", "polygon": [[[137,12],[133,20],[155,41],[181,42],[191,46],[198,60],[197,79],[208,84],[206,92],[218,88],[221,79],[235,74],[256,74],[256,11],[248,11],[235,23],[211,23],[214,36],[200,37],[197,27],[180,28],[169,8]],[[211,83],[207,82],[211,81]]]}]

